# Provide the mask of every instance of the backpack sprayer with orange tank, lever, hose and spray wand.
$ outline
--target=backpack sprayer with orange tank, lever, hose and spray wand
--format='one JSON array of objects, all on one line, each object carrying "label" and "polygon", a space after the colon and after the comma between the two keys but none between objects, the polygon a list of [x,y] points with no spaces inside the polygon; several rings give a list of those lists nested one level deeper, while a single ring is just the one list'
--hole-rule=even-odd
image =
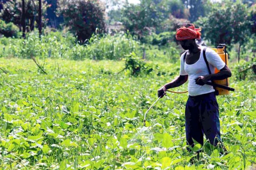
[{"label": "backpack sprayer with orange tank, lever, hose and spray wand", "polygon": [[[225,48],[225,51],[224,51],[224,48]],[[225,62],[225,64],[228,65],[228,54],[226,52],[226,44],[219,44],[217,48],[212,48],[212,49],[215,52],[217,52],[218,55],[220,56],[220,58]],[[215,69],[214,73],[218,73],[218,72],[219,72],[219,70]],[[215,80],[214,83],[206,82],[207,85],[213,86],[214,89],[216,89],[218,91],[218,95],[228,95],[229,91],[233,91],[233,92],[235,91],[234,88],[228,87],[228,83],[229,83],[228,78],[226,78],[224,80]],[[172,92],[172,93],[186,93],[186,92],[188,92],[188,91],[174,92],[172,90],[166,90],[166,91]],[[160,98],[161,97],[158,97],[158,99],[146,111],[146,113],[144,115],[143,126],[146,126],[146,115],[147,115],[147,112],[149,112],[149,110],[154,106],[154,104],[156,104],[156,102]]]}]

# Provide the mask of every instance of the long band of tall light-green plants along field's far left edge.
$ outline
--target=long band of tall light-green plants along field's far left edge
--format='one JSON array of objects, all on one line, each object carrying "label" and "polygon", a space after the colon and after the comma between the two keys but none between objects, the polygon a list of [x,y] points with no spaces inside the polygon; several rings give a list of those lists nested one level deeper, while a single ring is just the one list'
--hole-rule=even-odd
[{"label": "long band of tall light-green plants along field's far left edge", "polygon": [[[13,56],[18,58],[64,58],[64,59],[110,59],[125,58],[131,52],[138,52],[138,42],[129,34],[116,34],[115,36],[94,35],[87,44],[75,43],[75,37],[71,34],[50,32],[41,40],[38,34],[30,33],[25,40],[1,38],[0,56]],[[0,46],[1,47],[1,46]]]}]

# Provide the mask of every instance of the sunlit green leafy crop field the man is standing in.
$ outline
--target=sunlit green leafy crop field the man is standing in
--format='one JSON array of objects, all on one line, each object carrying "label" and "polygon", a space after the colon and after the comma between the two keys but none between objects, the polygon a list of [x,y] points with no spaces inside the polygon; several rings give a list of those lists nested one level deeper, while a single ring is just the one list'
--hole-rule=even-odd
[{"label": "sunlit green leafy crop field the man is standing in", "polygon": [[1,169],[255,168],[255,81],[233,76],[235,92],[217,97],[229,154],[206,142],[192,163],[196,155],[185,142],[187,94],[168,93],[148,113],[146,127],[142,122],[157,89],[178,75],[179,62],[158,62],[158,70],[137,77],[116,74],[123,61],[46,59],[47,75],[31,59],[0,63],[7,71],[0,74]]}]

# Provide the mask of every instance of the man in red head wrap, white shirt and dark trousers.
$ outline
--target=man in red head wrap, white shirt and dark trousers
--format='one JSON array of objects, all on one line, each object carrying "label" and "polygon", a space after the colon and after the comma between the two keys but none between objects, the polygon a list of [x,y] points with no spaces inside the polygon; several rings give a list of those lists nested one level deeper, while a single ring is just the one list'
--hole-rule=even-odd
[{"label": "man in red head wrap, white shirt and dark trousers", "polygon": [[[166,90],[181,86],[188,80],[188,101],[185,108],[185,130],[187,144],[193,147],[193,140],[203,145],[203,134],[214,146],[220,142],[220,121],[218,103],[213,86],[206,85],[212,80],[223,80],[231,77],[231,71],[220,56],[210,48],[205,54],[209,69],[214,73],[215,67],[220,70],[209,74],[209,69],[203,57],[203,47],[196,43],[200,39],[200,28],[193,24],[183,24],[177,29],[176,39],[185,50],[181,55],[179,76],[158,90],[158,96],[166,95]],[[185,56],[185,58],[184,58]],[[223,145],[221,144],[223,147]],[[225,150],[225,148],[223,147]]]}]

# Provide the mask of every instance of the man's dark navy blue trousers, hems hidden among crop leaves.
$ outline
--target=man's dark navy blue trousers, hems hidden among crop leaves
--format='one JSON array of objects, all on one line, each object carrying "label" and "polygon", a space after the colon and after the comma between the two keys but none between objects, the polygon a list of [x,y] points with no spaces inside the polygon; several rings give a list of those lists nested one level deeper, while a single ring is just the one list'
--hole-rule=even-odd
[{"label": "man's dark navy blue trousers, hems hidden among crop leaves", "polygon": [[187,144],[192,147],[192,138],[203,145],[203,134],[214,146],[221,142],[218,103],[214,92],[188,97],[185,129]]}]

